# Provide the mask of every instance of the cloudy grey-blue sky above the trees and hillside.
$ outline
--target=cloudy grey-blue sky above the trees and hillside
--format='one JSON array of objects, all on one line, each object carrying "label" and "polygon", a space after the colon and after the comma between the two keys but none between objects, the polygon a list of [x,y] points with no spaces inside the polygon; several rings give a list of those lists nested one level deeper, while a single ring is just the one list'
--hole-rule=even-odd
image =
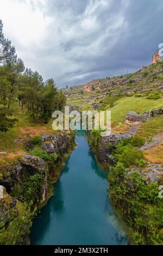
[{"label": "cloudy grey-blue sky above the trees and hillside", "polygon": [[134,72],[163,43],[162,0],[0,0],[4,35],[58,87]]}]

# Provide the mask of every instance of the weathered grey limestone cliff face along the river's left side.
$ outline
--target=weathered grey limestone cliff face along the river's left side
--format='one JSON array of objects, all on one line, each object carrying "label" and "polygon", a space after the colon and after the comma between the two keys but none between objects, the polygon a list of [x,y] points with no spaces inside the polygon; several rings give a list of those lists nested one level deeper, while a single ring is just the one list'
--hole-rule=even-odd
[{"label": "weathered grey limestone cliff face along the river's left side", "polygon": [[[62,154],[73,144],[73,133],[43,134],[39,145],[40,149],[48,155],[57,154],[57,159],[43,160],[31,154],[22,154],[21,157],[13,159],[10,164],[1,166],[0,185],[4,188],[4,194],[3,198],[0,199],[0,244],[5,244],[4,240],[1,239],[5,236],[9,237],[7,239],[9,244],[29,243],[31,217],[30,213],[26,216],[26,207],[31,204],[31,200],[33,201],[31,209],[34,209],[35,205],[39,206],[41,202],[47,199],[51,178],[55,176],[55,165],[61,160]],[[24,145],[26,148],[34,147],[31,139],[24,142]],[[26,201],[26,204],[24,204],[24,201]],[[22,229],[22,215],[23,219],[27,219],[27,221],[24,221],[26,229],[21,234],[19,228]],[[20,233],[16,237],[11,234],[14,226],[18,229],[16,234]],[[8,229],[8,227],[10,228]],[[19,239],[20,237],[22,239]]]}]

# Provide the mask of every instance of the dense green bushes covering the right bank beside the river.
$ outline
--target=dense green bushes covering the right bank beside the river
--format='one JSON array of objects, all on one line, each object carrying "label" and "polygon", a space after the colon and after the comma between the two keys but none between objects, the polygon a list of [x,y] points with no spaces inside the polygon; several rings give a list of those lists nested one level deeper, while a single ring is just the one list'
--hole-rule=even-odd
[{"label": "dense green bushes covering the right bank beside the river", "polygon": [[[138,245],[163,242],[163,202],[158,197],[159,184],[147,183],[139,168],[146,165],[143,153],[134,148],[144,140],[135,136],[118,142],[113,150],[115,164],[110,169],[111,198],[132,227],[131,236]],[[137,170],[132,171],[132,166]],[[130,168],[130,171],[126,168]]]}]

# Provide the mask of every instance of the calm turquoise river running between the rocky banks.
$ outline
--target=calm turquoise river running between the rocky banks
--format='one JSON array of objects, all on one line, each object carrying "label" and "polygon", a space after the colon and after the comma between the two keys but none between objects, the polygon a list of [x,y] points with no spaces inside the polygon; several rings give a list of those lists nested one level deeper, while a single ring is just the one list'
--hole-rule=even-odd
[{"label": "calm turquoise river running between the rocky banks", "polygon": [[124,223],[108,198],[106,171],[96,162],[86,134],[54,184],[54,195],[34,218],[32,245],[128,245]]}]

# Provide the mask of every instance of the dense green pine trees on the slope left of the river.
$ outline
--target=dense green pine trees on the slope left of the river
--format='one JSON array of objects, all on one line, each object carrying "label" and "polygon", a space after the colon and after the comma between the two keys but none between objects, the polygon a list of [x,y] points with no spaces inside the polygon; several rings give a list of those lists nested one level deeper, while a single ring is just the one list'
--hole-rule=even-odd
[{"label": "dense green pine trees on the slope left of the river", "polygon": [[34,120],[48,123],[52,112],[65,105],[66,97],[57,90],[53,79],[44,82],[39,73],[24,67],[11,41],[5,39],[2,28],[0,20],[0,131],[7,132],[18,121],[10,118],[10,106],[15,102],[22,110],[25,106]]}]

